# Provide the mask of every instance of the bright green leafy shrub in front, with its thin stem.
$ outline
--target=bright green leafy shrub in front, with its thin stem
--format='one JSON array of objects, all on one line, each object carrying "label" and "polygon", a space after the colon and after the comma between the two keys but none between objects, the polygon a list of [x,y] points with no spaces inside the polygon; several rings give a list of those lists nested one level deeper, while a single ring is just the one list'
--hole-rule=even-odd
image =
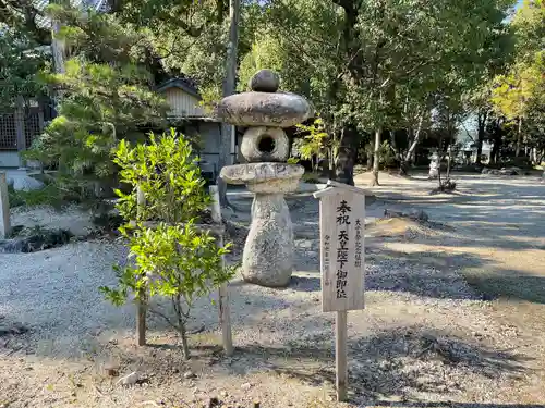
[{"label": "bright green leafy shrub in front, with its thin stem", "polygon": [[[122,140],[114,162],[121,169],[130,193],[117,190],[117,208],[125,220],[120,232],[131,248],[130,263],[116,267],[119,286],[100,290],[114,305],[130,294],[145,301],[148,296],[171,300],[174,317],[153,310],[180,334],[183,354],[189,358],[185,322],[195,299],[209,294],[234,273],[226,268],[222,256],[230,244],[218,247],[216,238],[201,232],[195,220],[211,202],[204,190],[191,143],[173,129],[159,137],[149,136],[148,145],[131,147]],[[137,188],[146,203],[138,206]],[[149,227],[149,220],[159,221]],[[135,222],[134,222],[135,221]]]}]

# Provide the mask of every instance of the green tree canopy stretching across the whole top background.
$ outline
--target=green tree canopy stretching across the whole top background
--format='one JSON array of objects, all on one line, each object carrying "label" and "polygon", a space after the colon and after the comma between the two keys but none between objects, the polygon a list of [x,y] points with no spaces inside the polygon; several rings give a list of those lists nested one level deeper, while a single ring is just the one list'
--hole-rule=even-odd
[{"label": "green tree canopy stretching across the whole top background", "polygon": [[[62,22],[57,36],[68,44],[70,72],[48,76],[55,85],[48,89],[62,89],[61,116],[86,118],[66,122],[84,133],[93,128],[86,144],[95,144],[98,123],[114,124],[117,138],[157,123],[165,107],[153,89],[168,77],[194,79],[205,103],[220,98],[226,0],[109,0],[102,13],[64,2],[38,10],[33,2],[0,1],[0,23],[26,38],[1,38],[12,50],[10,66],[19,66],[4,71],[10,78],[3,81],[32,83],[43,60],[25,65],[27,75],[21,61],[34,54],[13,50],[51,42],[39,23],[47,15]],[[526,0],[510,18],[512,7],[512,0],[246,0],[238,89],[246,90],[259,69],[278,71],[281,88],[304,95],[320,114],[325,143],[335,147],[326,149],[335,157],[335,176],[348,183],[362,146],[367,148],[360,151],[375,150],[374,158],[367,154],[375,163],[389,146],[404,166],[423,139],[444,128],[445,118],[458,128],[475,115],[482,143],[488,121],[501,116],[506,126],[520,127],[520,146],[540,147],[544,3]],[[108,89],[99,86],[101,75]],[[375,171],[378,182],[378,164]]]}]

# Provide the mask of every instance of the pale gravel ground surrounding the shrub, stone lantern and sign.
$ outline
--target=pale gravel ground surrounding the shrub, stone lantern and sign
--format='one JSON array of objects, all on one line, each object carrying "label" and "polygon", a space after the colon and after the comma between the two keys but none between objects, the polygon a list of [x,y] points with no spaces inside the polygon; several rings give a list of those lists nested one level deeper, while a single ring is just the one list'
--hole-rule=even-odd
[{"label": "pale gravel ground surrounding the shrub, stone lantern and sign", "polygon": [[[427,188],[424,182],[412,183]],[[29,330],[0,335],[0,407],[199,407],[213,396],[226,407],[250,407],[255,399],[262,407],[544,404],[543,341],[498,319],[497,305],[468,285],[461,271],[480,262],[480,256],[449,249],[453,243],[469,247],[475,238],[472,226],[455,219],[456,212],[441,212],[424,194],[410,191],[409,183],[407,190],[399,185],[377,191],[397,191],[404,201],[378,200],[367,208],[366,309],[349,314],[350,404],[332,403],[334,316],[322,313],[319,305],[318,208],[300,197],[290,200],[296,220],[296,272],[290,287],[263,288],[240,277],[231,283],[233,358],[221,356],[217,310],[209,299],[195,308],[190,324],[204,325],[191,337],[190,362],[181,361],[175,336],[159,321],[150,322],[149,347],[133,345],[134,310],[112,307],[97,290],[114,282],[111,264],[123,258],[121,245],[77,242],[0,255],[0,323]],[[407,202],[409,191],[414,202]],[[538,211],[530,211],[512,191],[501,191],[499,185],[494,194],[512,200],[507,207],[522,206],[519,222]],[[483,187],[480,194],[489,191]],[[544,197],[543,188],[533,194]],[[249,201],[234,203],[240,211],[229,217],[235,223],[231,231],[243,236]],[[470,221],[483,213],[482,202],[473,203],[464,210]],[[385,208],[409,207],[425,208],[433,221],[445,224],[373,222]],[[504,243],[502,237],[485,238]],[[105,364],[114,364],[121,375],[136,371],[138,383],[117,385]],[[187,370],[196,376],[186,379]]]}]

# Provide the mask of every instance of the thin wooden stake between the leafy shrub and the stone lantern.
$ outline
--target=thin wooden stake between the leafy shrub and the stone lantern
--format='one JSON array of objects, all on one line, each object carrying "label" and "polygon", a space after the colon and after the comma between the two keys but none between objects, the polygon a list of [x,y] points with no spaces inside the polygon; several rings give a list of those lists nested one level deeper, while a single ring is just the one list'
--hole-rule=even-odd
[{"label": "thin wooden stake between the leafy shrub and the stone lantern", "polygon": [[[211,207],[211,218],[213,220],[221,225],[221,207],[219,205],[219,191],[218,186],[210,186],[210,195],[214,199]],[[218,245],[223,246],[223,234],[219,233]],[[221,256],[221,268],[226,267],[226,257]],[[233,355],[233,336],[231,332],[231,313],[229,310],[229,287],[227,283],[223,283],[218,290],[219,297],[219,324],[221,326],[221,338],[223,343],[223,350],[226,356]]]}]

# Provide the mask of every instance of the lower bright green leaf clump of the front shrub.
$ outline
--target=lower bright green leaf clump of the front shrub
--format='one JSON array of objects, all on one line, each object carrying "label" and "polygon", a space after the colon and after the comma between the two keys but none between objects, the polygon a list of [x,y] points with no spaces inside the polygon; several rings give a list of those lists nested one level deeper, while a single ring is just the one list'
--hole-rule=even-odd
[{"label": "lower bright green leaf clump of the front shrub", "polygon": [[117,268],[120,289],[101,288],[116,305],[124,302],[129,290],[138,298],[146,289],[149,296],[181,296],[182,316],[189,318],[197,298],[232,277],[232,269],[221,265],[229,246],[218,248],[216,238],[197,232],[192,221],[184,225],[160,223],[156,228],[141,223],[123,228],[123,235],[130,238],[134,265]]}]

